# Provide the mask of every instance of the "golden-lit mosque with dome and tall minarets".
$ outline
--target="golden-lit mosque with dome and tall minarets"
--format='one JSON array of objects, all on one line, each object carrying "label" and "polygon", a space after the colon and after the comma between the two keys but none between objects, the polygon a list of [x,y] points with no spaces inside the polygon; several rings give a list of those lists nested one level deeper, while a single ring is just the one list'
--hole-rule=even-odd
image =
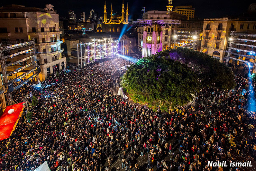
[{"label": "golden-lit mosque with dome and tall minarets", "polygon": [[113,8],[111,4],[110,9],[110,18],[107,18],[107,6],[106,1],[104,4],[104,20],[102,23],[102,31],[108,33],[120,33],[123,26],[129,23],[129,12],[128,12],[128,3],[126,6],[126,14],[125,14],[125,4],[124,0],[122,2],[122,13],[113,13]]}]

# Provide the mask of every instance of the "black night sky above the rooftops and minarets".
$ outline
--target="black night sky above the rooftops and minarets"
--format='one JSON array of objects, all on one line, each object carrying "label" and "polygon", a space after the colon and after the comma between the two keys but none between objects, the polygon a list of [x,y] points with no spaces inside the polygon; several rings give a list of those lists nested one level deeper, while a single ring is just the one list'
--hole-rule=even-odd
[{"label": "black night sky above the rooftops and minarets", "polygon": [[[128,1],[129,14],[133,19],[137,19],[141,14],[141,6],[147,10],[166,10],[167,0],[125,0],[125,10]],[[122,0],[106,0],[107,16],[110,15],[110,5],[113,3],[113,13],[121,13]],[[173,6],[192,5],[195,8],[195,15],[199,18],[225,17],[227,15],[242,15],[247,11],[249,4],[256,0],[244,0],[237,3],[234,0],[173,0]],[[103,15],[104,0],[2,0],[0,6],[7,4],[25,5],[26,7],[44,8],[46,3],[51,3],[60,17],[67,17],[68,10],[74,10],[77,17],[80,12],[85,12],[88,18],[89,11],[95,9],[100,16]]]}]

